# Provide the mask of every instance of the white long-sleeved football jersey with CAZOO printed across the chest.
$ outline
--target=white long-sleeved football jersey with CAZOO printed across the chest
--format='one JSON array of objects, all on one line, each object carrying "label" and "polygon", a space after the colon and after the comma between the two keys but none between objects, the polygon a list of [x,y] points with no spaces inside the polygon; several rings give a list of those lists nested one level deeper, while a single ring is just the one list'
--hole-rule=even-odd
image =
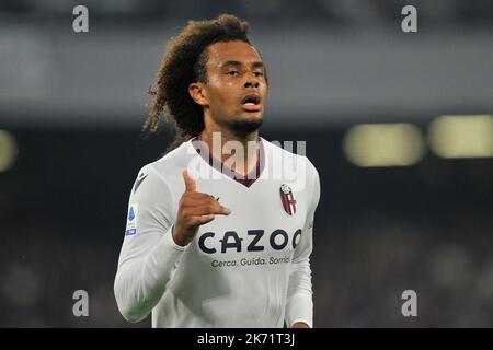
[{"label": "white long-sleeved football jersey with CAZOO printed across the chest", "polygon": [[[195,138],[141,168],[129,198],[114,291],[129,322],[152,327],[312,327],[310,254],[317,170],[264,139],[241,176]],[[185,247],[171,229],[188,168],[196,190],[231,210]]]}]

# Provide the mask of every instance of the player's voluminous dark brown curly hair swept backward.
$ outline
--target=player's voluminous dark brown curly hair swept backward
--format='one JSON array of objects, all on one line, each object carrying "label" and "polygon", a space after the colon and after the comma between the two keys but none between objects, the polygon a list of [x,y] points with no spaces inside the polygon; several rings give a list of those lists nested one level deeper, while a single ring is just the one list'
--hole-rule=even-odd
[{"label": "player's voluminous dark brown curly hair swept backward", "polygon": [[154,83],[149,88],[153,96],[142,131],[154,133],[162,119],[173,121],[175,139],[164,153],[197,136],[204,129],[203,107],[188,94],[193,82],[207,83],[206,48],[219,42],[242,40],[246,37],[248,22],[234,15],[221,14],[209,21],[190,21],[187,26],[168,44]]}]

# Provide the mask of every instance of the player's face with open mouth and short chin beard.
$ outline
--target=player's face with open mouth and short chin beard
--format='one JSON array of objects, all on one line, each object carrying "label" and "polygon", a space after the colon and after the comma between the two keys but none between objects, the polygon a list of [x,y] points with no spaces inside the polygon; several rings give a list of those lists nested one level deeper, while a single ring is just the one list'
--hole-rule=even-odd
[{"label": "player's face with open mouth and short chin beard", "polygon": [[209,116],[238,131],[256,130],[267,96],[261,56],[253,46],[240,40],[216,43],[207,50],[204,95]]}]

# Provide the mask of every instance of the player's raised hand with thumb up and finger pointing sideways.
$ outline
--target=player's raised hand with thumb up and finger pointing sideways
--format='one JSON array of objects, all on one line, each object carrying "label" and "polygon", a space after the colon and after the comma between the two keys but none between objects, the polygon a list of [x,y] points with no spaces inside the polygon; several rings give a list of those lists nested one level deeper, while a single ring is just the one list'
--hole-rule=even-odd
[{"label": "player's raised hand with thumb up and finger pointing sideways", "polygon": [[229,215],[231,210],[219,205],[213,196],[197,192],[195,180],[187,171],[183,171],[182,175],[185,191],[179,202],[172,235],[177,245],[185,246],[195,237],[198,226],[213,221],[216,215]]}]

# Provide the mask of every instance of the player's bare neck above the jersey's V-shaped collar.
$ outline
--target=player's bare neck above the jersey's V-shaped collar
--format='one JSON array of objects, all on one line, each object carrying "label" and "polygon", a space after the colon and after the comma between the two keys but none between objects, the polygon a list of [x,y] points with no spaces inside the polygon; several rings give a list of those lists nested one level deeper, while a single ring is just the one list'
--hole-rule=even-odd
[{"label": "player's bare neck above the jersey's V-shaped collar", "polygon": [[[210,119],[209,119],[210,120]],[[207,143],[213,155],[232,171],[248,174],[257,163],[259,130],[238,135],[227,127],[205,122],[199,138]]]}]

